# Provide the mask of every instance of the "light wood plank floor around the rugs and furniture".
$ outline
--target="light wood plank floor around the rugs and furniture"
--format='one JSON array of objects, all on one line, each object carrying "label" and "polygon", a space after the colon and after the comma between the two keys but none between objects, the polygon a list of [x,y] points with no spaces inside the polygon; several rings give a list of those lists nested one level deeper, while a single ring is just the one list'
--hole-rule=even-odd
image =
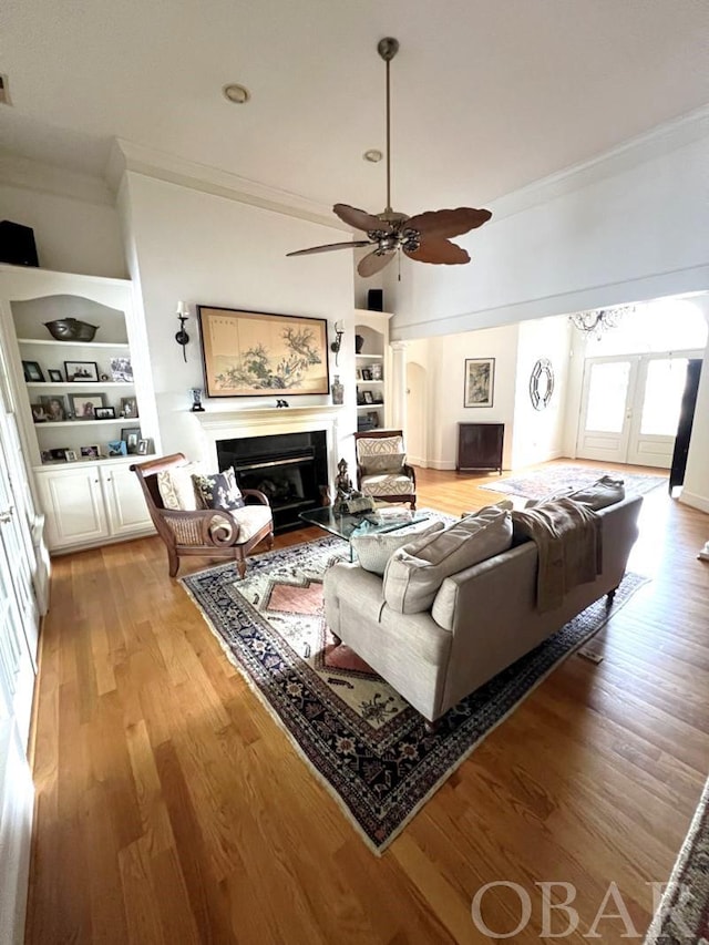
[{"label": "light wood plank floor around the rugs and furniture", "polygon": [[[501,497],[484,479],[422,470],[420,505]],[[647,495],[631,567],[653,581],[595,639],[604,661],[566,660],[381,859],[168,578],[158,538],[55,558],[27,942],[491,942],[471,901],[503,881],[533,903],[508,941],[540,941],[544,881],[577,890],[579,928],[562,941],[587,941],[610,882],[644,933],[647,884],[668,876],[709,769],[707,538],[709,516]],[[518,916],[512,890],[484,896],[491,929]]]}]

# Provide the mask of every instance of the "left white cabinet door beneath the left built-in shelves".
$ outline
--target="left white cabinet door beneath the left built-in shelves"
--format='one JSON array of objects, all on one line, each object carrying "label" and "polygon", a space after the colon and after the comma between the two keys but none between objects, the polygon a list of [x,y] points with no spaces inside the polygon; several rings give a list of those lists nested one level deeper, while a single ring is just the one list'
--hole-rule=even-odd
[{"label": "left white cabinet door beneath the left built-in shelves", "polygon": [[47,513],[50,549],[90,544],[109,536],[99,466],[37,474]]}]

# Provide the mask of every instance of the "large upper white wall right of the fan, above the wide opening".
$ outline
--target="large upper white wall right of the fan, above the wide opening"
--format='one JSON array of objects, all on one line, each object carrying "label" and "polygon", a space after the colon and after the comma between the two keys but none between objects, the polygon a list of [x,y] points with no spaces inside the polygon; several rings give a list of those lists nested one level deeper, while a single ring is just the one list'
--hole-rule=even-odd
[{"label": "large upper white wall right of the fan, above the wide opening", "polygon": [[384,270],[392,339],[709,288],[706,122],[493,202],[492,220],[455,240],[469,265]]}]

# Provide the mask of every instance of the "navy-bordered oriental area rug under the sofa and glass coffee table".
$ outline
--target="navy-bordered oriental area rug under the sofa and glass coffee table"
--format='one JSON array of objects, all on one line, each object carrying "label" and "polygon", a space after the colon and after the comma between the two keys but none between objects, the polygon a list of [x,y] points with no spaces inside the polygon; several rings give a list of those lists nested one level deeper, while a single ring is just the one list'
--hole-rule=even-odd
[{"label": "navy-bordered oriental area rug under the sofa and glass coffee table", "polygon": [[[443,516],[441,516],[443,517]],[[473,749],[645,583],[627,574],[608,610],[596,602],[459,702],[435,733],[325,623],[322,577],[349,559],[341,538],[182,578],[228,659],[290,737],[368,845],[381,853]]]}]

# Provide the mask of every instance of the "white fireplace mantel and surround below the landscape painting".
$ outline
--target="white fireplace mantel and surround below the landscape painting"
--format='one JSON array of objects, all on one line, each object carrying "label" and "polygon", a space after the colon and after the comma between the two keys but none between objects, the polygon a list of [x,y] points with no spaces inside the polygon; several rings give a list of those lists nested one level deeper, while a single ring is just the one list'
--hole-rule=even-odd
[{"label": "white fireplace mantel and surround below the landscape painting", "polygon": [[337,473],[338,419],[342,408],[331,404],[311,407],[260,408],[243,410],[205,410],[192,412],[203,434],[205,459],[209,468],[217,468],[217,442],[247,436],[270,436],[280,433],[310,433],[323,430],[328,443],[330,479]]}]

